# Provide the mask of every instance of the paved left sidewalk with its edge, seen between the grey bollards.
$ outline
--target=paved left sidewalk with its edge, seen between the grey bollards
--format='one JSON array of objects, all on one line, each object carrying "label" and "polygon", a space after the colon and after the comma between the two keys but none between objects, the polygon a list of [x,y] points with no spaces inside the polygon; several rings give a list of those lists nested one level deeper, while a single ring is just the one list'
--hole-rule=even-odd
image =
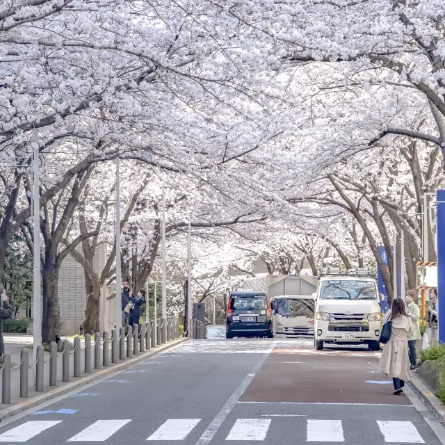
[{"label": "paved left sidewalk with its edge, seen between the grey bollards", "polygon": [[[65,337],[68,338],[68,337]],[[11,354],[11,359],[14,364],[14,367],[17,367],[20,363],[20,350],[26,346],[32,346],[33,344],[33,337],[29,335],[14,335],[14,334],[6,334],[3,336],[3,339],[5,341],[5,349],[6,352]],[[70,337],[70,343],[73,343],[73,339]],[[10,408],[13,405],[17,405],[20,403],[20,405],[26,405],[23,407],[23,409],[31,407],[32,403],[24,403],[29,402],[31,398],[35,398],[40,396],[39,398],[42,398],[42,395],[45,394],[48,396],[47,398],[52,398],[54,396],[60,396],[62,395],[63,391],[60,391],[60,387],[64,387],[68,385],[66,388],[67,391],[72,391],[75,389],[75,387],[78,387],[76,385],[76,382],[79,382],[79,384],[86,385],[87,383],[96,380],[97,378],[104,377],[104,373],[113,373],[115,371],[120,371],[124,366],[128,364],[128,366],[131,366],[131,364],[134,362],[134,359],[138,358],[147,358],[149,355],[153,355],[161,350],[165,350],[166,348],[171,348],[172,346],[175,346],[176,344],[180,343],[181,341],[184,341],[184,339],[177,339],[170,341],[170,343],[166,343],[162,346],[157,346],[156,348],[152,348],[151,350],[146,350],[145,353],[139,353],[139,355],[133,356],[132,359],[126,359],[124,361],[118,360],[117,364],[111,364],[111,342],[108,344],[108,353],[109,353],[109,360],[110,365],[106,368],[102,366],[102,357],[103,357],[103,348],[101,346],[101,369],[94,369],[95,367],[95,355],[94,355],[94,348],[91,348],[90,354],[91,354],[91,368],[92,371],[90,373],[83,372],[85,370],[85,343],[83,339],[81,339],[81,377],[74,378],[74,355],[73,350],[70,350],[70,381],[69,382],[63,382],[62,381],[62,353],[57,353],[57,387],[49,387],[49,352],[44,353],[44,389],[43,392],[36,392],[35,391],[35,369],[29,369],[29,397],[28,398],[20,398],[20,371],[19,369],[11,370],[11,404],[10,405],[3,405],[0,403],[0,421],[1,419],[5,418],[5,416],[10,416],[13,414],[17,414],[17,412],[13,412],[13,414],[10,414],[11,411]],[[92,345],[94,344],[94,339],[92,339]],[[127,348],[126,348],[127,352]],[[30,366],[33,366],[33,350],[29,350],[29,364]],[[100,372],[102,371],[102,372]],[[104,372],[106,371],[106,372]],[[85,381],[85,380],[88,380]],[[1,401],[1,385],[0,385],[0,401]],[[55,389],[58,389],[58,391],[54,391]],[[53,394],[57,393],[57,394]],[[9,413],[9,414],[8,414]]]}]

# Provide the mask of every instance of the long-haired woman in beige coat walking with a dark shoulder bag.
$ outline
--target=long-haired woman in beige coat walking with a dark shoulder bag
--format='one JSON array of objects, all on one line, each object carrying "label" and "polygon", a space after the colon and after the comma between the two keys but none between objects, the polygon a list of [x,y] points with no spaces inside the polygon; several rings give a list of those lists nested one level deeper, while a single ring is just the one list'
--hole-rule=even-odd
[{"label": "long-haired woman in beige coat walking with a dark shoulder bag", "polygon": [[378,365],[378,373],[386,374],[394,383],[396,396],[403,392],[405,382],[410,381],[410,362],[408,360],[408,337],[412,337],[412,321],[401,298],[393,300],[391,305],[391,339],[383,348]]}]

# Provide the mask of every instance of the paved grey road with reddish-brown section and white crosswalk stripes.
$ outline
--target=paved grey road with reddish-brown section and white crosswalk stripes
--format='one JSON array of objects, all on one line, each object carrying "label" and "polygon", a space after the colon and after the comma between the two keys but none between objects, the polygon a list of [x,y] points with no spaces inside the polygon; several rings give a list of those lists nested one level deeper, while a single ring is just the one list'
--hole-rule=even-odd
[{"label": "paved grey road with reddish-brown section and white crosswalk stripes", "polygon": [[2,426],[0,442],[444,443],[442,426],[409,389],[393,396],[377,363],[308,341],[188,341]]}]

